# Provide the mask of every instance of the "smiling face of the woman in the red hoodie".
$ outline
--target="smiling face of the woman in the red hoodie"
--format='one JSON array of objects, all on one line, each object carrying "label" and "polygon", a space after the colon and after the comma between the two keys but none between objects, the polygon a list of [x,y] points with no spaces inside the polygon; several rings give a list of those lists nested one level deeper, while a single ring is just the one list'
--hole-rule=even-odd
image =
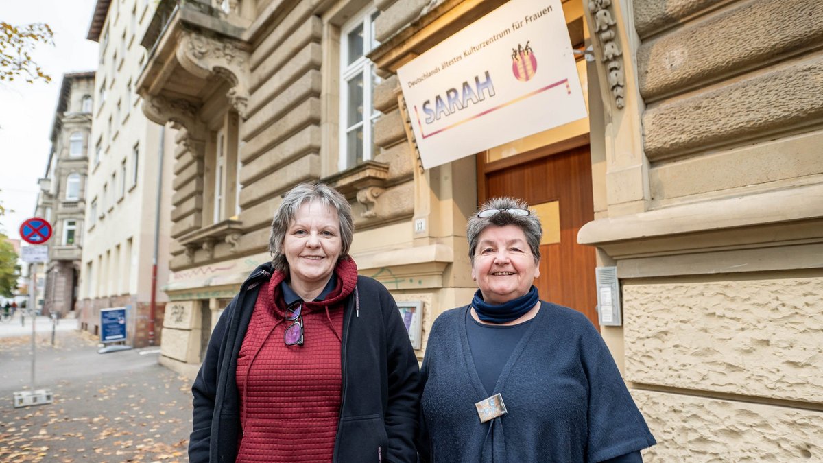
[{"label": "smiling face of the woman in the red hoodie", "polygon": [[340,217],[319,201],[300,205],[283,239],[292,283],[325,284],[342,251]]}]

